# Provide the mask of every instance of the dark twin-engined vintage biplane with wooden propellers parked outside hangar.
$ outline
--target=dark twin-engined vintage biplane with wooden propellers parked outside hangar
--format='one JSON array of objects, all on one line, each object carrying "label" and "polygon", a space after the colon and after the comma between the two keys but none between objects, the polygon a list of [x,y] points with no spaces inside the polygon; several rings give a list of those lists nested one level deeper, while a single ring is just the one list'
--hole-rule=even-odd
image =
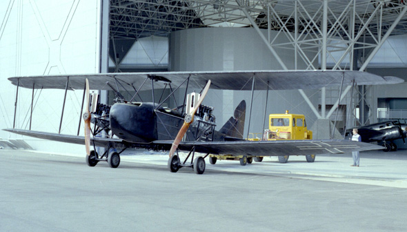
[{"label": "dark twin-engined vintage biplane with wooden propellers parked outside hangar", "polygon": [[[210,154],[264,157],[344,153],[381,148],[373,144],[338,139],[248,141],[243,137],[246,101],[241,101],[233,117],[216,131],[216,120],[212,114],[214,109],[202,104],[208,89],[251,90],[253,93],[255,79],[264,83],[256,90],[397,84],[403,81],[397,77],[379,77],[368,72],[344,70],[144,72],[10,77],[12,84],[17,86],[17,93],[19,87],[33,90],[65,89],[65,96],[68,90],[83,90],[82,105],[86,98],[86,110],[83,113],[85,136],[79,136],[79,133],[63,135],[18,128],[4,130],[40,139],[85,144],[88,166],[95,166],[102,161],[108,162],[112,168],[117,168],[120,164],[120,154],[127,148],[168,151],[168,169],[174,173],[179,168],[191,167],[195,173],[202,174],[206,168],[204,159]],[[250,86],[248,83],[251,80],[253,84]],[[139,91],[142,86],[152,90],[152,101],[135,101],[137,97],[141,99]],[[185,88],[185,93],[182,94],[183,102],[176,103],[172,108],[164,106],[163,102],[170,97],[175,101],[174,94],[181,91],[181,87]],[[114,104],[101,104],[97,101],[97,96],[90,96],[90,88],[112,90],[116,97]],[[155,99],[155,91],[166,88],[170,89],[170,94]],[[188,94],[188,90],[192,88],[201,89],[201,93]],[[132,97],[125,99],[121,91],[131,91]],[[103,154],[97,153],[97,146],[106,148]],[[180,151],[185,153],[182,158]]]}]

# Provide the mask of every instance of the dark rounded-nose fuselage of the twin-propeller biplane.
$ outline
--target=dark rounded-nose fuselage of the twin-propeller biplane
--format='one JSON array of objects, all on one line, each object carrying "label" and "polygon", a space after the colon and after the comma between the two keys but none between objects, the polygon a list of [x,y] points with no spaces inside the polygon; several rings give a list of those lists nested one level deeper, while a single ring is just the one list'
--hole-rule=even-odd
[{"label": "dark rounded-nose fuselage of the twin-propeller biplane", "polygon": [[[149,103],[117,103],[110,108],[110,129],[117,137],[128,142],[149,143],[155,140],[173,140],[183,124],[181,114],[170,108]],[[186,133],[187,141],[224,141],[224,135],[210,130],[208,125],[195,121]],[[199,126],[200,133],[196,131]],[[214,135],[212,136],[212,133]]]}]

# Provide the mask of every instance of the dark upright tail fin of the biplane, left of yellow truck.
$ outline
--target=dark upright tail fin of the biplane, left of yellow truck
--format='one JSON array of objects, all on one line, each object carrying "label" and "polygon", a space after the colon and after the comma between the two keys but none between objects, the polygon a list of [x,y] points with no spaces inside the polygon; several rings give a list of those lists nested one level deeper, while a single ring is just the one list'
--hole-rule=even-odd
[{"label": "dark upright tail fin of the biplane, left of yellow truck", "polygon": [[246,101],[240,101],[235,109],[235,117],[230,117],[228,122],[219,130],[220,133],[230,137],[237,137],[243,139],[244,133],[244,119],[246,117]]}]

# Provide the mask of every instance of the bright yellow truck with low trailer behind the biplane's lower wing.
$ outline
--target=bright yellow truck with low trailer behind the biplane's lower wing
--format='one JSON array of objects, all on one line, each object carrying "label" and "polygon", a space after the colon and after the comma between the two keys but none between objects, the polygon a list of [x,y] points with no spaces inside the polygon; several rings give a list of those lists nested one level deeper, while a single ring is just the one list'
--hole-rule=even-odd
[{"label": "bright yellow truck with low trailer behind the biplane's lower wing", "polygon": [[[294,139],[312,139],[312,131],[308,131],[304,115],[290,114],[286,110],[285,114],[268,115],[268,129],[264,133],[250,133],[248,140],[294,140]],[[289,155],[279,156],[280,163],[286,163]],[[251,164],[252,160],[261,162],[263,157],[246,155],[210,155],[210,164],[215,164],[217,160],[240,160],[242,166]],[[307,162],[314,162],[315,155],[306,155]]]}]

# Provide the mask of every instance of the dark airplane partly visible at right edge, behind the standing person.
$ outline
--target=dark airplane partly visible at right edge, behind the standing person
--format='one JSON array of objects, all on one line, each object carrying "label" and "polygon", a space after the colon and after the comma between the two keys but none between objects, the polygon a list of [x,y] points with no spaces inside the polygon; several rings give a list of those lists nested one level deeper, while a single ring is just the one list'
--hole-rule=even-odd
[{"label": "dark airplane partly visible at right edge, behind the standing person", "polygon": [[[397,151],[396,139],[403,139],[406,143],[407,124],[401,124],[398,120],[370,124],[357,130],[362,142],[381,142],[385,152]],[[352,130],[347,130],[345,137],[352,137]]]}]

